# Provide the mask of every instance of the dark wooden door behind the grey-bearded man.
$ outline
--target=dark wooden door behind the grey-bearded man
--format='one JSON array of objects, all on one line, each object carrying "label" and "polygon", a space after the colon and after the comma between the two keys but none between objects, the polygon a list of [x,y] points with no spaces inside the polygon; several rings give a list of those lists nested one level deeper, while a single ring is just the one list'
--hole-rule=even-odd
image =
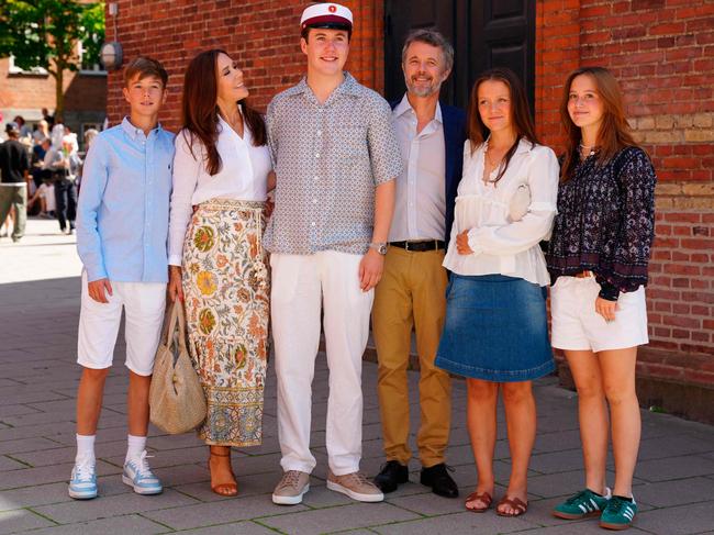
[{"label": "dark wooden door behind the grey-bearded man", "polygon": [[535,0],[386,0],[384,83],[389,100],[404,92],[401,51],[416,27],[436,27],[454,45],[454,73],[445,102],[466,108],[473,80],[484,69],[509,67],[535,100]]}]

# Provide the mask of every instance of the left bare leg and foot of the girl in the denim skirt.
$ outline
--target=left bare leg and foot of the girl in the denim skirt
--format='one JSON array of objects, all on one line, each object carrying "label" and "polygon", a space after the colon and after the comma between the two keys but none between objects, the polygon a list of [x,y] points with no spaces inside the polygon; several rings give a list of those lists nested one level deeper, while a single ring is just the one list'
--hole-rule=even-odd
[{"label": "left bare leg and foot of the girl in the denim skirt", "polygon": [[[476,492],[493,495],[493,449],[495,448],[495,403],[499,383],[480,379],[467,379],[468,402],[466,420],[471,437],[471,449],[476,459],[478,482]],[[488,504],[481,500],[466,503],[467,509],[483,509]]]}]

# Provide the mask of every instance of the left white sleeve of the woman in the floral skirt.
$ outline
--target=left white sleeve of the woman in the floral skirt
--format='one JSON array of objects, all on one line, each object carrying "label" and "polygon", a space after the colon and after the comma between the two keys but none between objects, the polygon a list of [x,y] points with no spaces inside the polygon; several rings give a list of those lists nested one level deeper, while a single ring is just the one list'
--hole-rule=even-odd
[{"label": "left white sleeve of the woman in the floral skirt", "polygon": [[[183,239],[191,220],[191,199],[203,165],[203,152],[200,147],[191,146],[183,132],[176,136],[176,153],[174,155],[174,189],[168,229],[168,264],[180,266],[183,254]],[[198,143],[197,143],[198,145]]]}]

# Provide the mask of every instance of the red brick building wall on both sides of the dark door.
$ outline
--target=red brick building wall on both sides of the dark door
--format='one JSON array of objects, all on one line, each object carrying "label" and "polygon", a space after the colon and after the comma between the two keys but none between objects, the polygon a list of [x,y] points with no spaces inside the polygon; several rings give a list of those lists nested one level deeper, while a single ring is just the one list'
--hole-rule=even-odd
[{"label": "red brick building wall on both sides of the dark door", "polygon": [[[356,20],[348,68],[381,90],[383,2],[346,3]],[[171,73],[165,122],[177,127],[181,74],[200,49],[221,46],[234,54],[261,109],[294,83],[304,69],[298,40],[304,4],[155,0],[147,14],[143,4],[120,0],[116,38],[129,59],[143,53],[165,62]],[[622,82],[632,125],[660,178],[648,288],[651,344],[646,352],[655,356],[644,359],[642,369],[713,384],[714,2],[542,0],[536,5],[540,136],[562,148],[558,102],[566,76],[580,65],[606,66]],[[108,18],[108,37],[112,24]],[[110,76],[109,91],[110,120],[115,123],[125,112],[119,74]],[[684,369],[685,361],[698,363],[695,370]]]}]

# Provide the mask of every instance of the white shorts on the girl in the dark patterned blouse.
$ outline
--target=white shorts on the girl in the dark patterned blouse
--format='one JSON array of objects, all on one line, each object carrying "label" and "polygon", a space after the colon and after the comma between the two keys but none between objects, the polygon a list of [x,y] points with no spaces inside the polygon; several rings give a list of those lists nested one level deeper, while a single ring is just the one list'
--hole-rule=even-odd
[{"label": "white shorts on the girl in the dark patterned blouse", "polygon": [[624,349],[647,344],[645,287],[620,292],[615,320],[606,322],[595,312],[600,285],[594,277],[559,277],[550,289],[551,345],[559,349]]}]

